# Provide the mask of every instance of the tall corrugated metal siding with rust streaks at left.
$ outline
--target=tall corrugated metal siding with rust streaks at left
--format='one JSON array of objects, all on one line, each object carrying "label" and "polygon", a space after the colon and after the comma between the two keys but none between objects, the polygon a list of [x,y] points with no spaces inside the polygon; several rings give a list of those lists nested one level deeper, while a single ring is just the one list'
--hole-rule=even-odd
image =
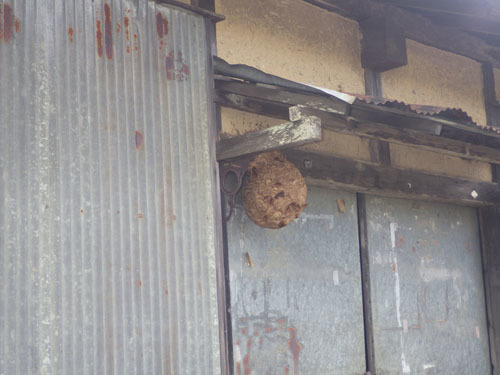
[{"label": "tall corrugated metal siding with rust streaks at left", "polygon": [[216,374],[204,20],[0,2],[0,374]]}]

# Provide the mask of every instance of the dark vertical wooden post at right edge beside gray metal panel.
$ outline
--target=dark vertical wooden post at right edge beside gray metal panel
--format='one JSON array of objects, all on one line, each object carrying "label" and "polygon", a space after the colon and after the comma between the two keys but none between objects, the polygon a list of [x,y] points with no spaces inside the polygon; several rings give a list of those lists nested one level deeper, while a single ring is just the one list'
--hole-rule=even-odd
[{"label": "dark vertical wooden post at right edge beside gray metal panel", "polygon": [[500,206],[479,209],[483,277],[493,375],[500,375]]}]

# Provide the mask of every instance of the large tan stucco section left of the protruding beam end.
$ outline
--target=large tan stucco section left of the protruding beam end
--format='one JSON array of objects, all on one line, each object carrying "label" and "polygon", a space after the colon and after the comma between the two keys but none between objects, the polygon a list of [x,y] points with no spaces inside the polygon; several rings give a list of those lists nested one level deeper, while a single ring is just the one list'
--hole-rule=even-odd
[{"label": "large tan stucco section left of the protruding beam end", "polygon": [[364,93],[359,27],[302,0],[217,0],[218,55],[267,73]]}]

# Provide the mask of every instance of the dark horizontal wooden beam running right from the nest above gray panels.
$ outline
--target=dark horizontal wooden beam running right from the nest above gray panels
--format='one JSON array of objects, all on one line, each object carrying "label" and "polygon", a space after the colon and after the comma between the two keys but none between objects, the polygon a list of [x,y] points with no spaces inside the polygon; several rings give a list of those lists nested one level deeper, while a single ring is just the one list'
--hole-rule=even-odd
[{"label": "dark horizontal wooden beam running right from the nest above gray panels", "polygon": [[395,197],[485,206],[500,202],[500,185],[434,175],[303,150],[283,151],[312,184]]}]

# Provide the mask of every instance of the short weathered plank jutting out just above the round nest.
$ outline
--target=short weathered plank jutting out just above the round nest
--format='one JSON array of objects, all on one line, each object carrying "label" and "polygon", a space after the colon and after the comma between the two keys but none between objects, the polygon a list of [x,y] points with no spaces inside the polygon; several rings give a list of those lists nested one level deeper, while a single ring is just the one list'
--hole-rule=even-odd
[{"label": "short weathered plank jutting out just above the round nest", "polygon": [[257,152],[301,146],[320,141],[321,138],[320,119],[315,116],[306,116],[298,121],[221,139],[217,144],[217,160],[227,160]]}]

